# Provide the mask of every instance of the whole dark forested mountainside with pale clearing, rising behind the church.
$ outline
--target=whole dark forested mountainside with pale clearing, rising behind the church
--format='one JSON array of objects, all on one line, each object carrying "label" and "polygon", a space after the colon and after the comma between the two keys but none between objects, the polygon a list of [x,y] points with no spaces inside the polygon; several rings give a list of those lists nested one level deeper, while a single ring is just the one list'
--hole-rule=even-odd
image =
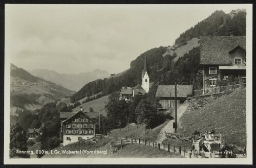
[{"label": "whole dark forested mountainside with pale clearing, rising behind the church", "polygon": [[[200,36],[228,36],[232,28],[233,35],[246,34],[246,13],[237,12],[233,17],[223,11],[216,11],[182,33],[170,47],[160,46],[148,50],[131,61],[130,69],[104,80],[92,81],[84,85],[72,95],[71,102],[97,94],[108,95],[121,86],[136,86],[142,82],[141,74],[145,57],[151,82],[159,85],[194,85],[194,89],[202,88],[202,74],[198,74]],[[171,50],[172,49],[172,50]]]}]

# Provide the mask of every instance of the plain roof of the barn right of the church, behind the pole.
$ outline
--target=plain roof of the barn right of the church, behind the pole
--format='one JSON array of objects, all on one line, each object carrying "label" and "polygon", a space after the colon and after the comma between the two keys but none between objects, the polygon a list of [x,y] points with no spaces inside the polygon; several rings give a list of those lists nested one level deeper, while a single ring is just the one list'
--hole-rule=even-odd
[{"label": "plain roof of the barn right of the church, behind the pole", "polygon": [[[159,85],[157,87],[156,97],[175,97],[174,85]],[[177,98],[187,98],[188,94],[192,94],[193,85],[177,85]]]}]

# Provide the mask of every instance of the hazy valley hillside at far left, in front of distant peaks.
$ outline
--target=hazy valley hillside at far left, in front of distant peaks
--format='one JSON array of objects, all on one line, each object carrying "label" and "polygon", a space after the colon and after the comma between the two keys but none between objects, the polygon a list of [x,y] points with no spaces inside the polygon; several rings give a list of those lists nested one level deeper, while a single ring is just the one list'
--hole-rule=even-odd
[{"label": "hazy valley hillside at far left, in front of distant peaks", "polygon": [[[40,109],[42,105],[55,102],[75,91],[55,83],[34,77],[26,70],[11,64],[11,109]],[[12,110],[13,111],[13,110]]]}]

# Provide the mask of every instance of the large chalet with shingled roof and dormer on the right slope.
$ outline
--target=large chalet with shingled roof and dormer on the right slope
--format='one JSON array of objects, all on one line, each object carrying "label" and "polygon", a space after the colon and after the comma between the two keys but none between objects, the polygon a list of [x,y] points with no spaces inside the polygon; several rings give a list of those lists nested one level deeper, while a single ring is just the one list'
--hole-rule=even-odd
[{"label": "large chalet with shingled roof and dormer on the right slope", "polygon": [[245,36],[201,37],[200,64],[204,68],[204,91],[218,86],[218,81],[234,78],[246,80]]}]

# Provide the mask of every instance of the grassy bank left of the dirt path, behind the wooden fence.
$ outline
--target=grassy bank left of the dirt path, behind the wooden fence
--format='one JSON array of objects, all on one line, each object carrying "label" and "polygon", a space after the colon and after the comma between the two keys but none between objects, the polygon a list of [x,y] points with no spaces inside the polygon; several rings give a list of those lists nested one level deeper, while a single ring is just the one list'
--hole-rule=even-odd
[{"label": "grassy bank left of the dirt path, behind the wooden fence", "polygon": [[132,126],[129,125],[129,133],[127,134],[127,127],[121,128],[121,133],[120,129],[115,129],[112,130],[111,133],[114,137],[129,137],[133,139],[147,139],[147,140],[156,140],[159,132],[161,129],[166,126],[166,124],[169,122],[169,120],[165,121],[163,124],[160,126],[154,128],[154,129],[147,129],[146,130],[146,137],[145,137],[145,126],[144,125],[139,125],[137,128],[137,125]]}]

